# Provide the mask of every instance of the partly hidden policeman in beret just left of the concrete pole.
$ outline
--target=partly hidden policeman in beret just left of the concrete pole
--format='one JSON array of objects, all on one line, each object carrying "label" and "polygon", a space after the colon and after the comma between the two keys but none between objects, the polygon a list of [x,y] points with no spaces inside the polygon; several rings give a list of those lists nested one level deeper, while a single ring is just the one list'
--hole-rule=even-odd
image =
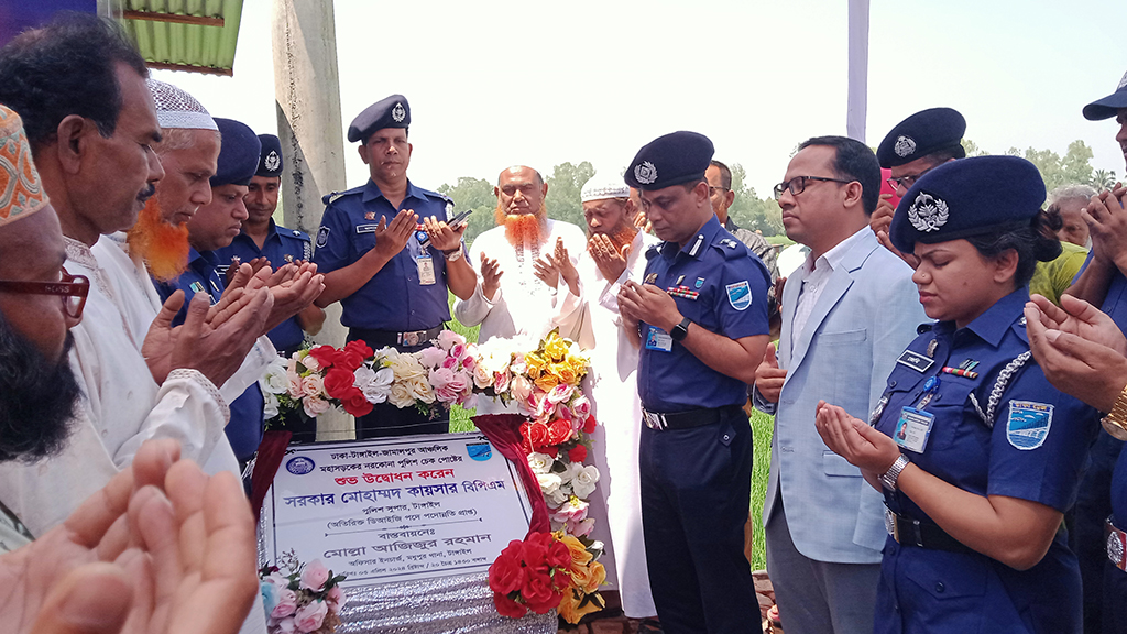
[{"label": "partly hidden policeman in beret just left of the concrete pole", "polygon": [[[273,215],[278,204],[284,167],[282,142],[273,134],[259,134],[258,141],[261,143],[258,169],[247,184],[247,195],[243,196],[247,219],[242,221],[242,230],[231,240],[230,246],[215,249],[219,261],[215,268],[221,275],[225,275],[232,266],[238,268],[243,262],[249,262],[256,268],[265,265],[277,270],[286,264],[309,261],[313,255],[313,245],[308,235],[274,223]],[[289,359],[301,349],[305,333],[316,335],[323,323],[325,310],[310,305],[282,322],[267,336],[278,355]],[[317,440],[317,419],[302,420],[301,415],[292,413],[282,416],[278,426],[293,432],[293,442]]]}]

